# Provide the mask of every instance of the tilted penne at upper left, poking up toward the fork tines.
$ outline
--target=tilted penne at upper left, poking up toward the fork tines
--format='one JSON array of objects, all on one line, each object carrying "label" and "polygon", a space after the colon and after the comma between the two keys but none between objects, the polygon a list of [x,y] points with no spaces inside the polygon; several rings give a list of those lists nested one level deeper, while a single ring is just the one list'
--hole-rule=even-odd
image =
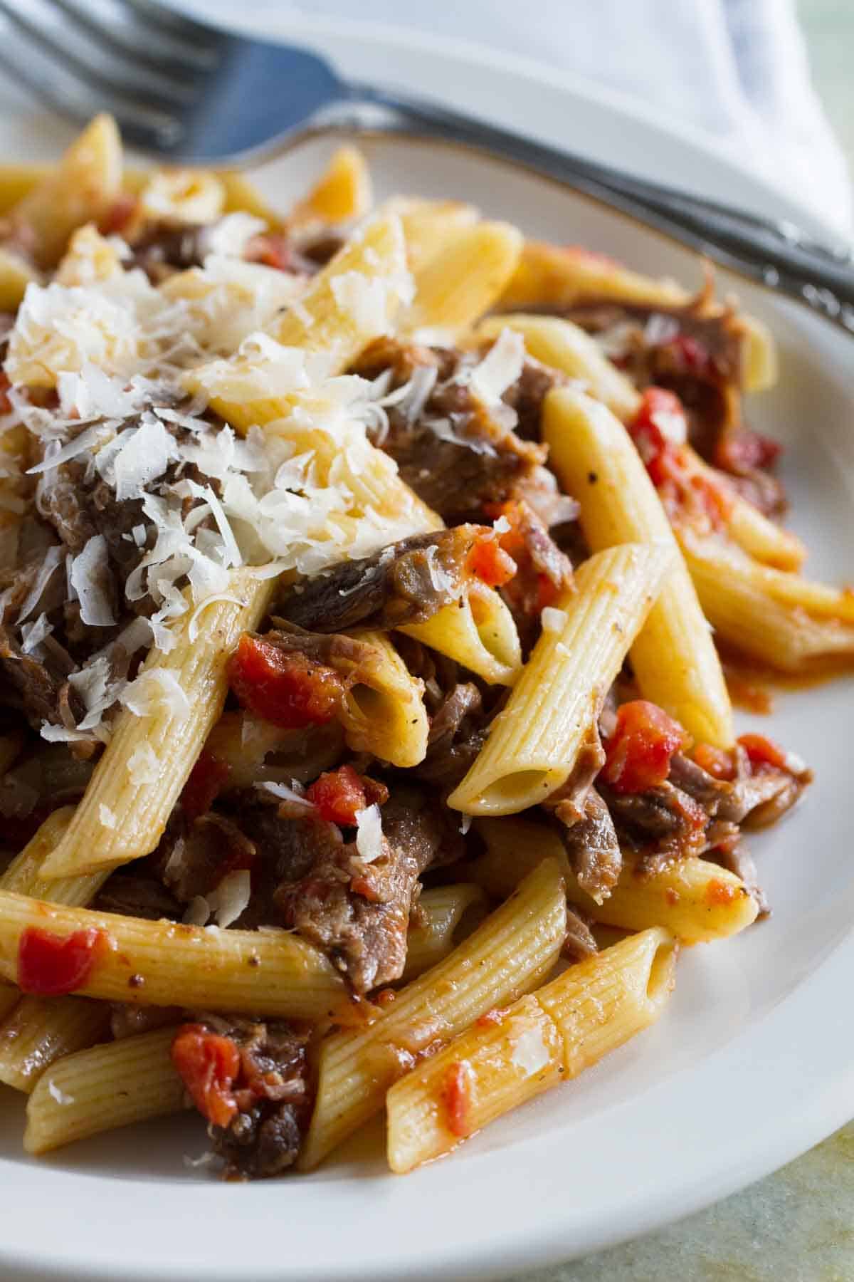
[{"label": "tilted penne at upper left, poking up toward the fork tines", "polygon": [[54,267],[69,236],[97,223],[122,190],[122,140],[111,115],[96,115],[59,165],[10,212],[38,267]]}]

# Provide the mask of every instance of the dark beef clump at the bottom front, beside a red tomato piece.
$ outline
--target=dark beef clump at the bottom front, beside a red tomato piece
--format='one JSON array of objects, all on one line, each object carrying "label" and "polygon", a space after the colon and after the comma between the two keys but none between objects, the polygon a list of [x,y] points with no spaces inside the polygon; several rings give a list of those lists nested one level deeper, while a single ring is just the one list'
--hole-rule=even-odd
[{"label": "dark beef clump at the bottom front, beside a red tomato piece", "polygon": [[279,1176],[297,1160],[311,1111],[309,1032],[280,1019],[252,1023],[204,1014],[198,1022],[237,1044],[237,1113],[227,1127],[210,1124],[211,1149],[227,1179]]}]

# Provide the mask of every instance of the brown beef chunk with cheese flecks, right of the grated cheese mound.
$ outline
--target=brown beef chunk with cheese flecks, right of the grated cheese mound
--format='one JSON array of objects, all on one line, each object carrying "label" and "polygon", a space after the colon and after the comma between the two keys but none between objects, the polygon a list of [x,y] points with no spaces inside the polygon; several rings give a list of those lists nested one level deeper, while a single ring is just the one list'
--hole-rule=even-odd
[{"label": "brown beef chunk with cheese flecks, right of the grated cheese mound", "polygon": [[463,381],[456,381],[478,359],[380,338],[353,367],[365,378],[391,369],[392,388],[407,382],[419,367],[435,372],[430,395],[415,406],[414,417],[399,406],[388,408],[388,431],[383,428],[375,444],[391,454],[419,497],[447,520],[510,497],[513,486],[535,474],[544,462],[540,446],[503,427],[484,412]]}]

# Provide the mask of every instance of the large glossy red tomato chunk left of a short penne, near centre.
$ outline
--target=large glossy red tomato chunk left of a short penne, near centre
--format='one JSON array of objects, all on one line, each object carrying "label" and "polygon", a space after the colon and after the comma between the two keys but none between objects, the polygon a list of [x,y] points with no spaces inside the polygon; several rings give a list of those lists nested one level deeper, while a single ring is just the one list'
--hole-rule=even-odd
[{"label": "large glossy red tomato chunk left of a short penne, near centre", "polygon": [[229,660],[228,677],[243,708],[287,729],[330,722],[344,691],[333,668],[250,632],[243,633]]}]

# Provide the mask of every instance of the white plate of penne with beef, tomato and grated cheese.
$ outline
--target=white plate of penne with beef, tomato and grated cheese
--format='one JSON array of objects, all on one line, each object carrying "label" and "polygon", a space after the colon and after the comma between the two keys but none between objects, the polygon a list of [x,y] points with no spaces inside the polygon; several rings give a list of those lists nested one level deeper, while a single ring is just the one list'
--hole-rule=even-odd
[{"label": "white plate of penne with beef, tomato and grated cheese", "polygon": [[446,145],[0,219],[0,1259],[494,1276],[845,1120],[844,336]]}]

